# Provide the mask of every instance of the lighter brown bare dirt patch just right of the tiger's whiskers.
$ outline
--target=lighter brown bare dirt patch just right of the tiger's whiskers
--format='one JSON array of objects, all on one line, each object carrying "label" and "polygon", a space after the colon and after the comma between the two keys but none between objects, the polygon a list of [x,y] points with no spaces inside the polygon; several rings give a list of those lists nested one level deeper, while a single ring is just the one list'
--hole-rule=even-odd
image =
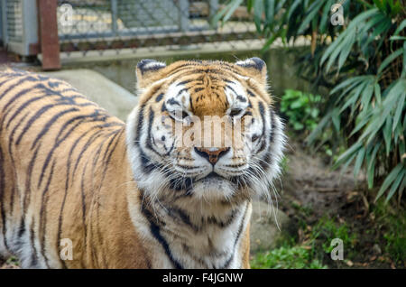
[{"label": "lighter brown bare dirt patch just right of the tiger's whiskers", "polygon": [[[290,141],[285,155],[288,162],[281,179],[281,209],[288,214],[291,201],[311,208],[315,216],[337,214],[345,208],[346,198],[360,189],[351,168],[333,171],[322,155],[309,154],[299,143]],[[358,182],[363,182],[363,175]]]}]

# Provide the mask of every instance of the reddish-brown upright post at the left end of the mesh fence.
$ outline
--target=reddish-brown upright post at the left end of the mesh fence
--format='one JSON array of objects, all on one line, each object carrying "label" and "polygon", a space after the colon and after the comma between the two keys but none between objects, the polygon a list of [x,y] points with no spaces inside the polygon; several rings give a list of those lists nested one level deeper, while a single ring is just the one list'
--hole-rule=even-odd
[{"label": "reddish-brown upright post at the left end of the mesh fence", "polygon": [[60,69],[57,0],[38,0],[42,69]]}]

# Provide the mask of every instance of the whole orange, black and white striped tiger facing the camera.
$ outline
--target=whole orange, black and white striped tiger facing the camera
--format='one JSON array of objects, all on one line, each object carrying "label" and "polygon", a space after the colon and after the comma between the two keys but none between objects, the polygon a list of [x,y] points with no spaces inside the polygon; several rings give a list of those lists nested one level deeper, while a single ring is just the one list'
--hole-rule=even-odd
[{"label": "whole orange, black and white striped tiger facing the camera", "polygon": [[[259,58],[141,60],[126,123],[65,81],[1,71],[0,257],[23,268],[250,268],[252,203],[269,198],[286,142],[266,70]],[[224,116],[217,132],[209,116]],[[203,140],[241,136],[182,144],[198,120]]]}]

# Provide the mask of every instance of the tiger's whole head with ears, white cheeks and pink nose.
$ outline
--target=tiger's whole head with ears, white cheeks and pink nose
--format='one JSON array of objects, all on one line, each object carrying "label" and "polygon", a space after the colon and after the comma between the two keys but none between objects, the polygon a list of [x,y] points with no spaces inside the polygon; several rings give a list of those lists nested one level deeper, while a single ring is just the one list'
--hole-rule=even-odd
[{"label": "tiger's whole head with ears, white cheeks and pink nose", "polygon": [[137,85],[127,145],[141,189],[158,199],[269,196],[284,135],[263,60],[142,60]]}]

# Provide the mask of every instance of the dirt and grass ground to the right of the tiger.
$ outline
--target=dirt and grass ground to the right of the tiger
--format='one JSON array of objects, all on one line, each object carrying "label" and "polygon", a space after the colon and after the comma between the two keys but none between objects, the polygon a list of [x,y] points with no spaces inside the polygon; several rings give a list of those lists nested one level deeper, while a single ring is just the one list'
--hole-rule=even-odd
[{"label": "dirt and grass ground to the right of the tiger", "polygon": [[[405,268],[404,209],[374,203],[363,175],[355,181],[352,168],[332,171],[328,161],[290,141],[279,208],[291,220],[272,249],[252,255],[253,267]],[[334,238],[344,242],[342,261],[330,257]]]}]

